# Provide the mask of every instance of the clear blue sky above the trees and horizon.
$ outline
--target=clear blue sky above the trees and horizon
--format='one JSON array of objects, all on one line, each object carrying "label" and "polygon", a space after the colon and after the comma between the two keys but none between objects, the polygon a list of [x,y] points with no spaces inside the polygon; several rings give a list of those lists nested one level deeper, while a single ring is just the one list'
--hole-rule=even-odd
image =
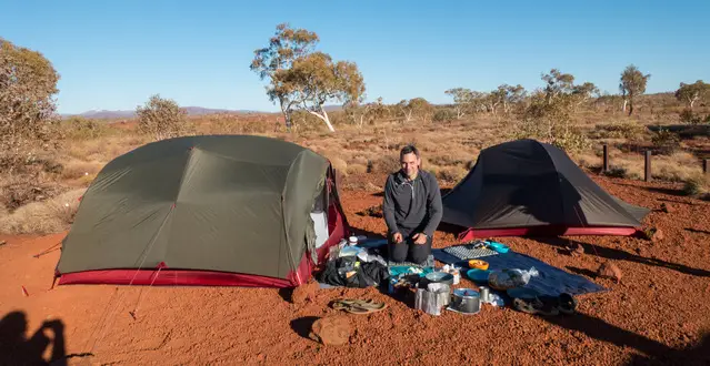
[{"label": "clear blue sky above the trees and horizon", "polygon": [[618,92],[634,63],[648,92],[710,80],[710,1],[38,1],[0,0],[0,37],[61,75],[60,113],[180,105],[278,111],[249,70],[276,26],[317,32],[358,63],[369,100],[447,89],[541,85],[551,68]]}]

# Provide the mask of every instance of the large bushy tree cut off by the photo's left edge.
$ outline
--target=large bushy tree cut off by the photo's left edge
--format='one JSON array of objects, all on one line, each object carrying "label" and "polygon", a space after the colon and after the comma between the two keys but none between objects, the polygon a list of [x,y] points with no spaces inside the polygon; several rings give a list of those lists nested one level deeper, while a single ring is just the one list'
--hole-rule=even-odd
[{"label": "large bushy tree cut off by the photo's left edge", "polygon": [[38,142],[51,140],[58,119],[59,74],[40,52],[0,38],[0,161],[14,166]]}]

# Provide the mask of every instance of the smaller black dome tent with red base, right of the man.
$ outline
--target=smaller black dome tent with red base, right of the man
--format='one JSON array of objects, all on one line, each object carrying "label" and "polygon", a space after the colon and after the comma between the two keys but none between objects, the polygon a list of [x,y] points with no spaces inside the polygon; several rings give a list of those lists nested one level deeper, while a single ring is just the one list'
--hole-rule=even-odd
[{"label": "smaller black dome tent with red base, right of the man", "polygon": [[632,235],[648,209],[602,190],[557,146],[517,140],[481,151],[442,197],[460,240],[522,235]]}]

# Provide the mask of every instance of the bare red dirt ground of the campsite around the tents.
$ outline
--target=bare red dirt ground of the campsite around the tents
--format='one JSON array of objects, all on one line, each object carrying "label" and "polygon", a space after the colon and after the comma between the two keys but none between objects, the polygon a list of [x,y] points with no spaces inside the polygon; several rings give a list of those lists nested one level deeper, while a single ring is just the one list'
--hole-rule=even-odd
[{"label": "bare red dirt ground of the campsite around the tents", "polygon": [[[57,244],[62,234],[0,237],[7,241],[0,246],[4,318],[0,364],[49,359],[52,347],[46,347],[41,337],[24,344],[21,337],[30,338],[52,319],[63,324],[63,331],[54,329],[63,338],[66,359],[77,365],[710,363],[710,203],[677,195],[678,185],[594,180],[628,202],[653,209],[647,224],[660,227],[666,238],[659,243],[570,238],[584,246],[581,256],[561,253],[559,245],[566,240],[499,238],[514,251],[610,289],[578,296],[579,314],[573,316],[539,317],[486,305],[473,316],[444,312],[434,317],[376,288],[320,289],[301,306],[287,301],[288,291],[273,288],[68,285],[49,289],[59,251],[39,258],[32,255]],[[384,231],[381,218],[356,214],[379,204],[380,196],[341,195],[353,227],[373,234]],[[673,212],[661,212],[662,203]],[[434,246],[453,243],[452,234],[437,232]],[[621,283],[594,277],[607,260],[623,272]],[[471,286],[468,281],[461,285]],[[371,315],[347,314],[354,329],[348,345],[319,345],[308,338],[309,326],[337,313],[328,303],[339,296],[373,298],[389,306]],[[129,312],[137,304],[133,318]],[[11,312],[24,314],[27,324]],[[49,343],[52,332],[48,328],[44,334]],[[61,350],[61,342],[57,348]]]}]

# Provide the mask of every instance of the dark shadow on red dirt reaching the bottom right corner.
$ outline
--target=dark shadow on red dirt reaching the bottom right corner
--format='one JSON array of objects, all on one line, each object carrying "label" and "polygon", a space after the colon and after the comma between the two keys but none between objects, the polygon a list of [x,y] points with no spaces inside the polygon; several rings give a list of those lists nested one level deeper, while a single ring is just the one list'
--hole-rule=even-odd
[{"label": "dark shadow on red dirt reaching the bottom right corner", "polygon": [[581,313],[572,316],[541,316],[540,318],[564,329],[583,333],[590,338],[607,342],[621,348],[630,347],[644,354],[643,356],[634,355],[632,357],[634,362],[629,365],[648,363],[688,365],[688,363],[707,362],[710,355],[707,352],[710,346],[710,334],[706,334],[698,346],[677,349]]}]

